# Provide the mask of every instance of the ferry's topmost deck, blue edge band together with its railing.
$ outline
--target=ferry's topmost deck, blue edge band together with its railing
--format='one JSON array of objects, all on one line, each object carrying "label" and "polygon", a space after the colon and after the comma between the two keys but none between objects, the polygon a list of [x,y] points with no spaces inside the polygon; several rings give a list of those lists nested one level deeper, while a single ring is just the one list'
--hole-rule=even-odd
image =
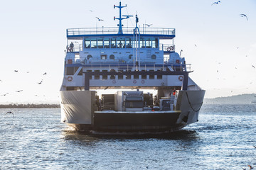
[{"label": "ferry's topmost deck, blue edge band together with its railing", "polygon": [[[72,40],[82,40],[83,37],[99,36],[133,36],[134,28],[122,28],[122,34],[118,34],[119,28],[68,28],[67,38]],[[173,39],[175,28],[140,28],[142,37],[157,37],[159,39]]]}]

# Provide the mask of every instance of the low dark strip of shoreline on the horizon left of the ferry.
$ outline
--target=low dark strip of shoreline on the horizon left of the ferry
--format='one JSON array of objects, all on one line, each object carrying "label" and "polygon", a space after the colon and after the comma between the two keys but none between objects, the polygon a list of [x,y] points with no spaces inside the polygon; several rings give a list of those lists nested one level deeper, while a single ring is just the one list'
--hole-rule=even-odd
[{"label": "low dark strip of shoreline on the horizon left of the ferry", "polygon": [[59,104],[0,104],[0,108],[60,108]]}]

